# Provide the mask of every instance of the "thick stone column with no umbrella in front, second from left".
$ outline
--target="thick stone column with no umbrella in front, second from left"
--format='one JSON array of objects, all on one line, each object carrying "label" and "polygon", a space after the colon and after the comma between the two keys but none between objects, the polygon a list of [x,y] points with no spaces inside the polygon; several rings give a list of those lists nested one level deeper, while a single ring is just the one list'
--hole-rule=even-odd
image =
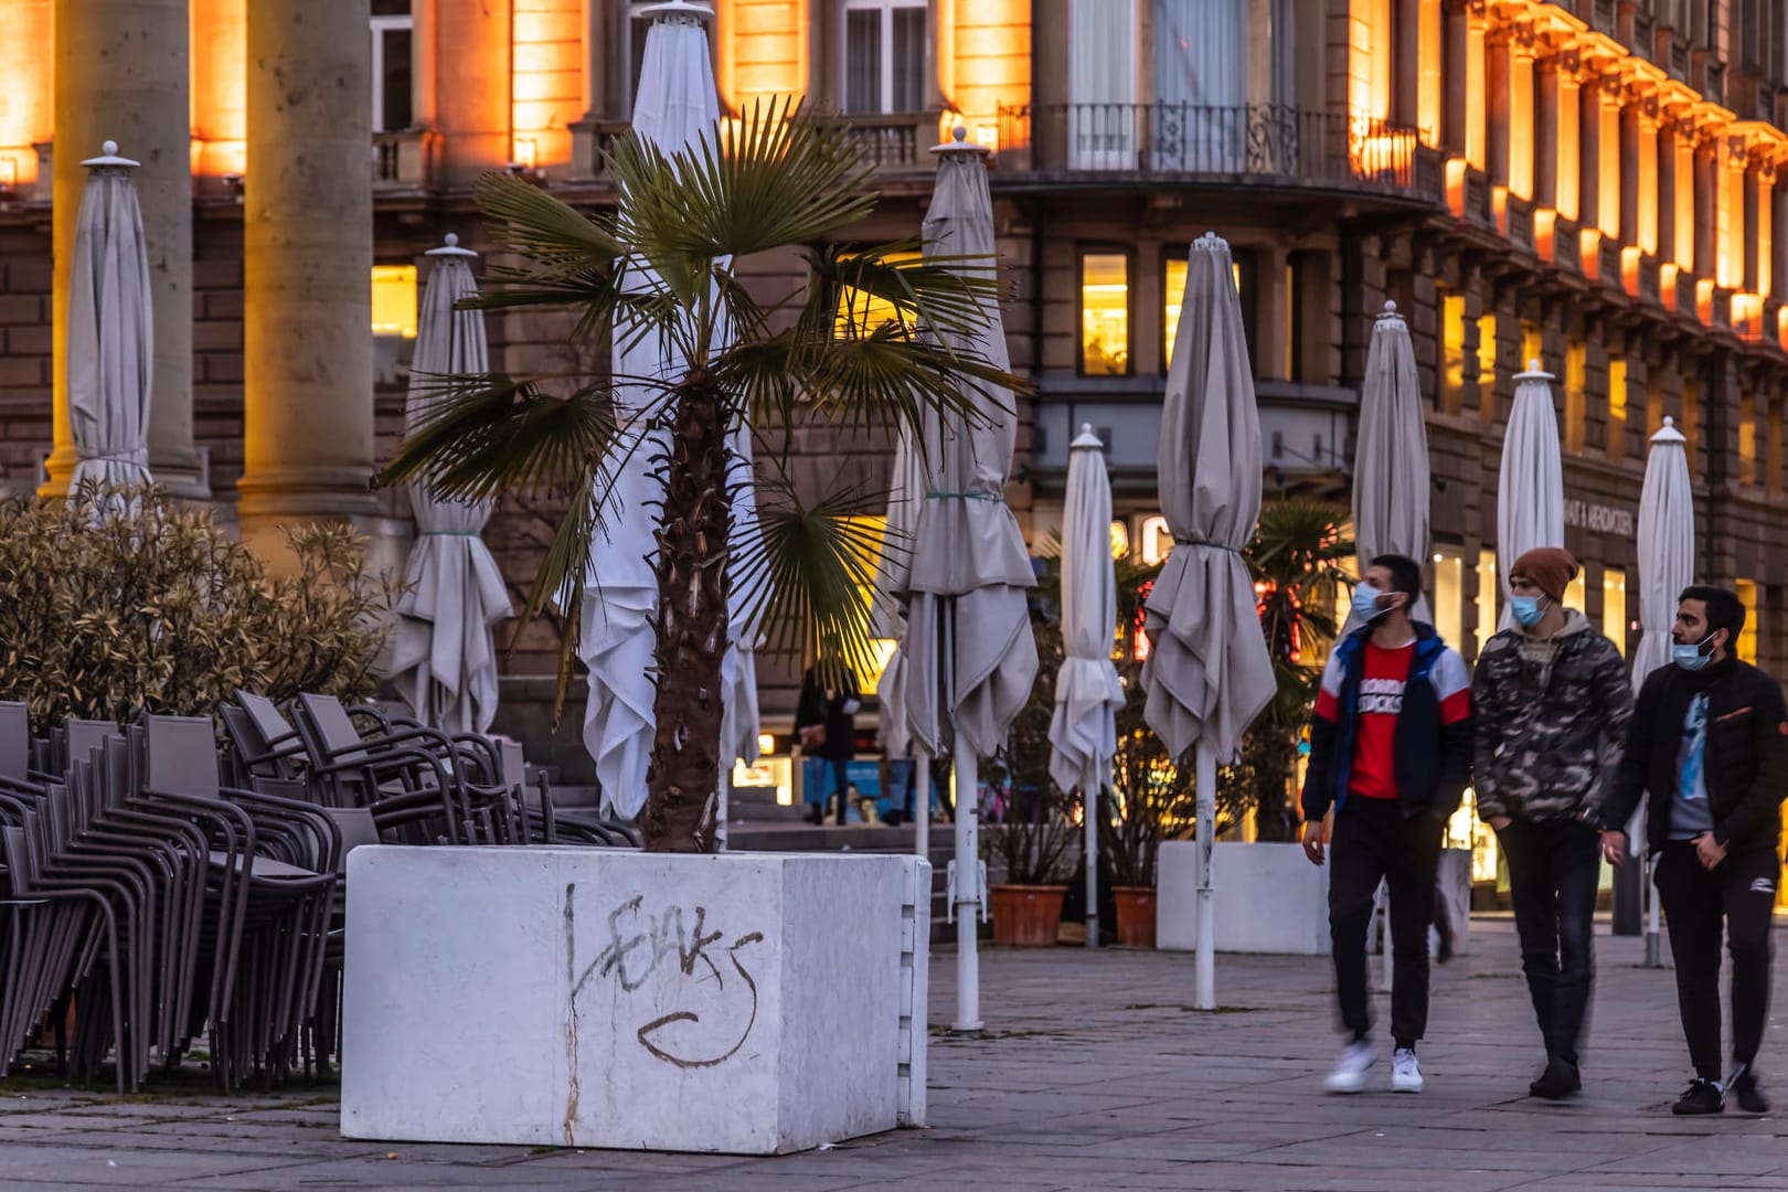
[{"label": "thick stone column with no umbrella in front, second from left", "polygon": [[372,515],[368,0],[249,7],[243,541]]}]

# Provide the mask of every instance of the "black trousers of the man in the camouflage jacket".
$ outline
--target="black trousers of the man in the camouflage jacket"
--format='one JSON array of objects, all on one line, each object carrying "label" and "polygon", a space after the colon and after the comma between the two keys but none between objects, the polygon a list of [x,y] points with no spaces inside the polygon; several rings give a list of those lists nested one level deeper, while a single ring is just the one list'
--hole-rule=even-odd
[{"label": "black trousers of the man in the camouflage jacket", "polygon": [[1602,845],[1577,820],[1511,820],[1497,833],[1509,860],[1522,970],[1547,1056],[1577,1063],[1595,981],[1595,888]]}]

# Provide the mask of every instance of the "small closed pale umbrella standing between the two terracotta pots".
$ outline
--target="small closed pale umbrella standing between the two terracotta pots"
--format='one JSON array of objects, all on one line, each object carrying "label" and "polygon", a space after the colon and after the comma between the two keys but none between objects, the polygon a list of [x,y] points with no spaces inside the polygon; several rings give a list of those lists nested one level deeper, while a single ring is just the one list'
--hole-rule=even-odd
[{"label": "small closed pale umbrella standing between the two terracotta pots", "polygon": [[1112,486],[1105,443],[1091,425],[1067,452],[1062,504],[1062,667],[1050,717],[1050,777],[1080,788],[1087,831],[1087,947],[1100,945],[1100,792],[1118,754],[1123,681],[1112,665],[1118,631],[1118,577],[1112,572]]}]

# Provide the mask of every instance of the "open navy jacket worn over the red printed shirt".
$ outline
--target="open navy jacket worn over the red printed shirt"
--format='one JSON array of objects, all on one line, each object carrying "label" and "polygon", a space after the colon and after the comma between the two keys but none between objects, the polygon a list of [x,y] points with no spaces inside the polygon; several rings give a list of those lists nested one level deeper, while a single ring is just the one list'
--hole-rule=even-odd
[{"label": "open navy jacket worn over the red printed shirt", "polygon": [[[1434,625],[1413,624],[1416,654],[1409,661],[1402,709],[1393,736],[1396,801],[1405,817],[1452,815],[1472,768],[1472,695],[1464,659]],[[1366,670],[1371,625],[1355,629],[1328,656],[1311,717],[1311,761],[1303,774],[1303,818],[1320,820],[1346,802],[1359,727],[1359,684]]]}]

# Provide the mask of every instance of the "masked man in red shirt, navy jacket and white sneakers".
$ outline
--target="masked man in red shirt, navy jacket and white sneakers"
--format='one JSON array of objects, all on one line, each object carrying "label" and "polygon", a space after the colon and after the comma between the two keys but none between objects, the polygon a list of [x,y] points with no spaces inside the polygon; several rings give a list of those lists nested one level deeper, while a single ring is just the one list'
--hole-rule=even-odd
[{"label": "masked man in red shirt, navy jacket and white sneakers", "polygon": [[1341,640],[1323,668],[1303,779],[1303,851],[1323,863],[1332,808],[1328,931],[1341,1024],[1352,1033],[1330,1092],[1359,1092],[1373,1063],[1366,928],[1379,883],[1391,888],[1391,1088],[1421,1092],[1416,1042],[1429,1019],[1429,922],[1441,826],[1459,806],[1472,763],[1472,693],[1464,661],[1430,625],[1409,620],[1421,590],[1414,559],[1371,561],[1354,590],[1364,629]]}]

